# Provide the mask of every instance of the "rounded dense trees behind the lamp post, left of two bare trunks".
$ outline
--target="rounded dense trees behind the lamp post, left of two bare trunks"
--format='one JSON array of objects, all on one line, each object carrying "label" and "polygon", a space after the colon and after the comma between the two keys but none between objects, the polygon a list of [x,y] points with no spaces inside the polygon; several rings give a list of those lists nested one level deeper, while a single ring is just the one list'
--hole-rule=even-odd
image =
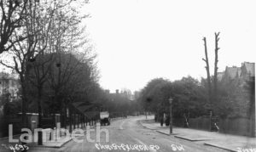
[{"label": "rounded dense trees behind the lamp post, left of two bare trunks", "polygon": [[200,82],[191,76],[183,77],[180,81],[170,82],[163,78],[156,78],[148,82],[140,93],[139,101],[147,111],[160,116],[169,114],[169,101],[173,99],[173,116],[183,117],[184,113],[190,116],[204,115],[207,111],[206,96]]}]

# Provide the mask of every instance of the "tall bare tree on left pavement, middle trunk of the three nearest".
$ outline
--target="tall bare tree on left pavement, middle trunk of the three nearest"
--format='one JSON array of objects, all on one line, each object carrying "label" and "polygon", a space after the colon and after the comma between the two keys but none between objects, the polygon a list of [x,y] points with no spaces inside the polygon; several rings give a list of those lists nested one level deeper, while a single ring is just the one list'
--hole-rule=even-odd
[{"label": "tall bare tree on left pavement, middle trunk of the three nearest", "polygon": [[[58,10],[61,8],[68,7],[68,3],[72,1],[67,1],[67,3],[63,3],[63,1],[56,3],[56,1],[53,1],[53,4],[48,4],[46,7],[49,8],[50,14],[47,12],[44,12],[43,15],[39,12],[40,16],[37,16],[36,19],[39,18],[38,21],[38,31],[41,31],[37,33],[36,40],[38,40],[38,44],[36,48],[38,49],[33,54],[33,59],[35,62],[32,64],[32,70],[31,73],[29,73],[29,80],[32,83],[32,85],[37,89],[38,96],[38,127],[42,127],[42,102],[43,102],[43,91],[44,86],[47,80],[49,79],[49,71],[51,65],[55,61],[55,56],[53,55],[53,52],[57,51],[58,49],[58,38],[55,39],[55,31],[56,29],[65,29],[65,26],[56,26],[55,23],[52,23],[53,20],[55,20],[55,16],[58,15]],[[44,8],[44,4],[42,5]],[[41,19],[41,20],[40,20]],[[60,18],[59,18],[60,19]],[[64,20],[64,19],[61,19]],[[60,21],[61,22],[61,21]],[[42,24],[43,23],[43,24]],[[46,28],[45,28],[46,26]],[[64,30],[65,31],[65,30]],[[61,37],[60,31],[57,30],[57,37]],[[55,42],[56,41],[56,42]],[[60,63],[58,63],[60,64]],[[61,65],[58,65],[61,66]],[[61,76],[61,75],[59,75]],[[60,80],[60,79],[59,79]],[[38,144],[43,144],[42,141],[42,132],[38,132]]]}]

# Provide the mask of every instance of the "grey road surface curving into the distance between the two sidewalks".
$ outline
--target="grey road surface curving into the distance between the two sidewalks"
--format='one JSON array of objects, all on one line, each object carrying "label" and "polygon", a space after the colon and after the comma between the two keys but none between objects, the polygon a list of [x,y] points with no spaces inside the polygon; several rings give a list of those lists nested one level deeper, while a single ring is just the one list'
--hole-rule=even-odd
[{"label": "grey road surface curving into the distance between the two sidewalks", "polygon": [[[173,136],[167,136],[159,132],[154,132],[144,128],[139,120],[145,119],[144,116],[128,117],[126,119],[112,121],[110,126],[101,127],[100,142],[96,140],[96,131],[90,132],[90,137],[79,137],[82,143],[70,141],[60,149],[42,149],[38,151],[68,151],[68,152],[105,152],[105,151],[188,151],[188,152],[224,152],[224,149],[213,148],[186,141]],[[103,129],[103,130],[102,130]],[[105,131],[108,131],[109,138],[106,138]],[[89,137],[89,141],[88,138]],[[109,141],[108,141],[109,140]]]}]

